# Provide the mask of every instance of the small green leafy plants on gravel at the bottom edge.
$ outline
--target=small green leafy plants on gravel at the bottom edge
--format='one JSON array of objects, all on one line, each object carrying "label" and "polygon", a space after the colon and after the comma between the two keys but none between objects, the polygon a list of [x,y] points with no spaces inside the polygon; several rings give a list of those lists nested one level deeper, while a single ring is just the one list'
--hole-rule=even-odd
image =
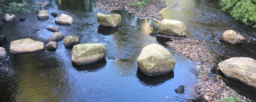
[{"label": "small green leafy plants on gravel at the bottom edge", "polygon": [[242,97],[239,97],[236,94],[236,91],[233,91],[231,96],[232,97],[222,97],[221,100],[219,100],[219,102],[247,102],[243,100]]}]

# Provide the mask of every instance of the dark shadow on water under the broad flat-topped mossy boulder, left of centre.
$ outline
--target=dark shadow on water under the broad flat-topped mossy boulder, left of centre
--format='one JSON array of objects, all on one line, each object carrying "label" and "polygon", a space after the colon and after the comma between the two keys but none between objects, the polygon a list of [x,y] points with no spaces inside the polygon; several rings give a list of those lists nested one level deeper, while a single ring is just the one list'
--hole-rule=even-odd
[{"label": "dark shadow on water under the broad flat-topped mossy boulder, left of centre", "polygon": [[72,63],[72,65],[75,67],[75,69],[77,71],[88,71],[88,72],[95,72],[95,71],[99,71],[101,68],[104,68],[106,65],[106,59],[105,57],[96,63],[91,63],[91,64],[87,64],[87,65],[76,65],[74,63]]}]

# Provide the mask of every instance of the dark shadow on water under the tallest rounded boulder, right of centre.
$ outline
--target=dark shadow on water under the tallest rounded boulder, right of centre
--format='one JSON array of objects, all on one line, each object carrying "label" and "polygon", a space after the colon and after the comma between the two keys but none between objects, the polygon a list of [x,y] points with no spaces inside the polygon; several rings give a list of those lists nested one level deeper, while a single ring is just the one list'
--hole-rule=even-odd
[{"label": "dark shadow on water under the tallest rounded boulder, right of centre", "polygon": [[136,76],[140,80],[141,84],[147,86],[159,86],[162,83],[165,83],[166,81],[174,78],[174,72],[172,71],[168,74],[149,76],[141,72],[140,68],[138,68]]}]

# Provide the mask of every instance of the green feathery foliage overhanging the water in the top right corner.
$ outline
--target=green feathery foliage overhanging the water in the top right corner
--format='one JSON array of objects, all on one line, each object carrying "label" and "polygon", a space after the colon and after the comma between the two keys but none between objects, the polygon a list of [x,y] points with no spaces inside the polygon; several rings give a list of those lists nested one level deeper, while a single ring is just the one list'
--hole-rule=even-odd
[{"label": "green feathery foliage overhanging the water in the top right corner", "polygon": [[256,0],[221,0],[219,4],[222,11],[229,12],[235,19],[256,23]]}]

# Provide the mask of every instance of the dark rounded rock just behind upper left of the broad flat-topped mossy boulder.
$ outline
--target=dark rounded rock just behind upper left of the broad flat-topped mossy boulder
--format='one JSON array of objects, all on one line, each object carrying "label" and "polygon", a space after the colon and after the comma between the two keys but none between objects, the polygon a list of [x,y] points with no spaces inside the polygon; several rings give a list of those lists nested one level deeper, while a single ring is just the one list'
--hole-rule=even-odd
[{"label": "dark rounded rock just behind upper left of the broad flat-topped mossy boulder", "polygon": [[67,36],[67,37],[64,38],[64,46],[66,48],[72,47],[72,46],[74,46],[76,44],[79,44],[79,43],[80,43],[80,37],[78,37],[78,36],[70,35],[70,36]]}]

